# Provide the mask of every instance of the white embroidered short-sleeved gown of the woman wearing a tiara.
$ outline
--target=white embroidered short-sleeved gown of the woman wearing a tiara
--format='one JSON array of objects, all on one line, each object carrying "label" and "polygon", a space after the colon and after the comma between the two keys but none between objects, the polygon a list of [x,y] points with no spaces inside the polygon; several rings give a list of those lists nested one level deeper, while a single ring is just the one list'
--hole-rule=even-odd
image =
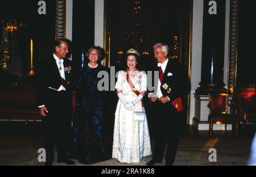
[{"label": "white embroidered short-sleeved gown of the woman wearing a tiara", "polygon": [[[129,73],[134,87],[139,92],[147,90],[147,75],[142,71]],[[132,102],[137,95],[131,90],[126,80],[125,71],[119,71],[117,90],[121,90],[127,102]],[[145,111],[141,106],[141,111]],[[137,105],[136,105],[137,106]],[[123,163],[138,163],[144,156],[151,155],[150,134],[148,131],[147,118],[144,121],[133,121],[133,111],[127,110],[123,103],[118,100],[115,111],[114,140],[112,157]]]}]

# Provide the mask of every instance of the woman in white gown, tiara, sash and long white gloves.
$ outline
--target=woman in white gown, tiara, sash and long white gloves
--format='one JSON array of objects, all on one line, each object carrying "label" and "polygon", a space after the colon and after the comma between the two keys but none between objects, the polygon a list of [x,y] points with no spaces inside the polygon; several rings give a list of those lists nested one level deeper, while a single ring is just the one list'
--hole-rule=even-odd
[{"label": "woman in white gown, tiara, sash and long white gloves", "polygon": [[[142,98],[147,90],[147,75],[136,69],[138,57],[137,50],[127,51],[128,69],[118,72],[115,84],[119,100],[115,111],[112,157],[121,163],[138,163],[144,156],[151,155],[146,113],[142,113],[145,112]],[[137,120],[142,117],[144,120]]]}]

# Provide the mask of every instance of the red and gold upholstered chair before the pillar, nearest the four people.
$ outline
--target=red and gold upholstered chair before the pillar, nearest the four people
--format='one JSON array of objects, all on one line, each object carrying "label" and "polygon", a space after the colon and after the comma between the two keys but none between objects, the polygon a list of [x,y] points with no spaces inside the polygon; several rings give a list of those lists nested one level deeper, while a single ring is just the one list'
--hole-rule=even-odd
[{"label": "red and gold upholstered chair before the pillar, nearest the four people", "polygon": [[209,122],[209,132],[212,136],[213,124],[232,124],[232,130],[236,129],[236,136],[238,133],[239,120],[237,115],[231,115],[228,113],[228,98],[229,95],[226,93],[212,93],[209,94],[209,104],[210,113],[208,116]]}]

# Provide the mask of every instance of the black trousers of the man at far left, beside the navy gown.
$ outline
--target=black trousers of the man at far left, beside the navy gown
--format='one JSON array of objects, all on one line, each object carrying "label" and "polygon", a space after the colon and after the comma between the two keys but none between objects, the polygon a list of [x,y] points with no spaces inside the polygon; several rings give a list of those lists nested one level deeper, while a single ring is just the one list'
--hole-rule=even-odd
[{"label": "black trousers of the man at far left, beside the navy gown", "polygon": [[54,146],[57,145],[57,158],[65,159],[71,148],[71,116],[72,105],[67,91],[49,91],[49,101],[46,104],[47,116],[43,117],[44,149],[46,162],[55,159]]}]

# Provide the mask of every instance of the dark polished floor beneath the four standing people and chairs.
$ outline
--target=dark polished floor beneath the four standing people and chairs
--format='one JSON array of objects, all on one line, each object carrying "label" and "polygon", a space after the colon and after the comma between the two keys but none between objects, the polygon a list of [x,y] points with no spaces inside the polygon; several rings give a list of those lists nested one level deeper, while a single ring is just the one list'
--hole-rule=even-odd
[{"label": "dark polished floor beneath the four standing people and chairs", "polygon": [[[16,125],[15,125],[16,124]],[[40,124],[40,123],[38,123]],[[250,155],[250,145],[253,138],[254,128],[247,128],[246,132],[240,131],[235,137],[231,132],[226,134],[222,131],[214,131],[209,137],[208,131],[195,132],[188,126],[187,132],[181,136],[174,165],[176,166],[243,166],[247,164]],[[31,125],[27,129],[20,127],[19,123],[11,125],[0,123],[0,165],[2,166],[42,166],[38,161],[38,149],[43,147],[40,125]],[[216,150],[216,162],[213,159],[212,151]],[[141,163],[118,163],[116,159],[95,163],[96,166],[144,166],[150,161],[151,155],[144,157]],[[64,163],[53,165],[61,166]],[[77,166],[81,166],[76,161]],[[162,163],[156,163],[163,166]]]}]

